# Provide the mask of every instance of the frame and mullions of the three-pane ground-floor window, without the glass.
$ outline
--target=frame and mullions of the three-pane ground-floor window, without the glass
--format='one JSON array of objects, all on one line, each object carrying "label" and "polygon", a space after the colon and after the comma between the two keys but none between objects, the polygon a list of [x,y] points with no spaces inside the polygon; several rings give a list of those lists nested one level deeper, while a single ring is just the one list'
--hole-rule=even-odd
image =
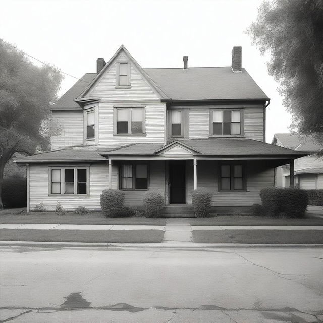
[{"label": "frame and mullions of the three-pane ground-floor window, without the glass", "polygon": [[[52,193],[51,192],[51,173],[52,169],[61,170],[61,193]],[[74,193],[64,193],[65,192],[65,169],[74,170]],[[86,194],[78,194],[78,178],[77,170],[86,169]],[[84,183],[84,182],[80,182]],[[76,193],[75,193],[76,192]],[[48,167],[48,196],[90,196],[90,167],[89,165],[78,165],[78,166],[62,166],[62,165],[51,165]]]}]

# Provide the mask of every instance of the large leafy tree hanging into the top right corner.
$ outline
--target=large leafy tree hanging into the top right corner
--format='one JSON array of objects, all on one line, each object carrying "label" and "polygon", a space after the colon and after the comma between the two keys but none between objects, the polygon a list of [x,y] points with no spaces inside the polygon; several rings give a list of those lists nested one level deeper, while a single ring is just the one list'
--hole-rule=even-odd
[{"label": "large leafy tree hanging into the top right corner", "polygon": [[270,54],[292,129],[323,143],[323,1],[264,1],[247,32]]}]

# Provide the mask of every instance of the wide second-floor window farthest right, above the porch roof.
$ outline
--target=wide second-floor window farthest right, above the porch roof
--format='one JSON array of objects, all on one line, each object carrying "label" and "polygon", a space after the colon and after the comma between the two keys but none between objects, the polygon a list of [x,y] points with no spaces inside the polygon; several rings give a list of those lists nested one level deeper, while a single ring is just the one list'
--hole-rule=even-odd
[{"label": "wide second-floor window farthest right, above the porch roof", "polygon": [[214,136],[241,135],[241,111],[213,110],[211,134]]}]

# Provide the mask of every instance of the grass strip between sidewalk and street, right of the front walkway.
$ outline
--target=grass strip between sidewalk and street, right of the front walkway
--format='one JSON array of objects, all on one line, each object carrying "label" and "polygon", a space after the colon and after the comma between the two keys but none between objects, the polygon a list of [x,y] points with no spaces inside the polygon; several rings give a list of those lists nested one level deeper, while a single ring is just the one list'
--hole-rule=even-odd
[{"label": "grass strip between sidewalk and street, right of the front walkway", "polygon": [[195,243],[323,243],[323,230],[193,230]]}]

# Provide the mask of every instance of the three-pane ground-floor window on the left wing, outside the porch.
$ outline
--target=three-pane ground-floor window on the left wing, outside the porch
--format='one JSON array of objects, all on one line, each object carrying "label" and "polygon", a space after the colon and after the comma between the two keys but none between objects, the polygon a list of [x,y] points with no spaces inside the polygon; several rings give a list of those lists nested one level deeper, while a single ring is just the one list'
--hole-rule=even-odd
[{"label": "three-pane ground-floor window on the left wing, outside the porch", "polygon": [[52,166],[49,171],[49,194],[84,195],[89,193],[89,168],[87,166]]}]

